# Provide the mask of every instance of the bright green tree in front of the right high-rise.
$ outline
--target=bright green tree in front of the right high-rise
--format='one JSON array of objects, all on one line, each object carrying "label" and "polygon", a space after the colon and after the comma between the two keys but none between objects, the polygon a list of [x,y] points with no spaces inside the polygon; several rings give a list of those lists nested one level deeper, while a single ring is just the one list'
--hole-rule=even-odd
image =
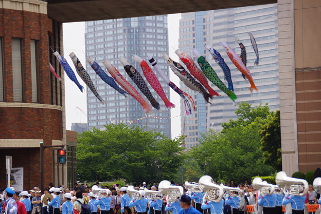
[{"label": "bright green tree in front of the right high-rise", "polygon": [[244,182],[254,176],[269,176],[274,168],[263,163],[259,130],[271,112],[268,106],[251,108],[239,104],[236,121],[229,121],[221,132],[209,130],[197,147],[187,154],[215,180]]}]

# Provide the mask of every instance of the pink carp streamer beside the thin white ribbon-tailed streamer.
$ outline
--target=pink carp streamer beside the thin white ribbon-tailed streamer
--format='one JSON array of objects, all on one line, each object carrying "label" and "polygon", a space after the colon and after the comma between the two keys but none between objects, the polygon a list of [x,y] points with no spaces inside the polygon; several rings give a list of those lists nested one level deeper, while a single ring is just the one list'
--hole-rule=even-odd
[{"label": "pink carp streamer beside the thin white ribbon-tailed streamer", "polygon": [[165,103],[165,106],[168,109],[175,108],[175,105],[172,104],[171,102],[169,102],[169,100],[167,99],[167,96],[166,96],[166,94],[165,94],[165,92],[163,90],[163,87],[162,87],[161,83],[159,83],[155,73],[149,67],[147,62],[145,60],[141,59],[137,55],[133,55],[132,59],[136,63],[138,63],[140,65],[142,73],[144,73],[144,76],[146,77],[146,80],[153,87],[153,89],[156,91],[156,93],[162,98],[162,100]]}]

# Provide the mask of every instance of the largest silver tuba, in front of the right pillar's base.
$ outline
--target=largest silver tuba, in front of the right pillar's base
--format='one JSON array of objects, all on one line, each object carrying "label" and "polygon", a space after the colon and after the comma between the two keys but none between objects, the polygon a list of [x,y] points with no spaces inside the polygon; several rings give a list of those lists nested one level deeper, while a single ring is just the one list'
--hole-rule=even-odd
[{"label": "largest silver tuba, in front of the right pillar's base", "polygon": [[288,177],[284,171],[276,174],[275,182],[283,188],[284,194],[289,193],[292,196],[305,196],[309,190],[306,180]]}]

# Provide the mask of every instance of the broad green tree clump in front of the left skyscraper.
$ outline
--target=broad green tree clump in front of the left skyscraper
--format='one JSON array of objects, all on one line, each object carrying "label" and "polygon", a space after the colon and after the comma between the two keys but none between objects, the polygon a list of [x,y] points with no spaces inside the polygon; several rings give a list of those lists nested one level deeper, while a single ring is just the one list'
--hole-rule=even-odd
[{"label": "broad green tree clump in front of the left skyscraper", "polygon": [[79,180],[149,182],[161,176],[169,179],[183,160],[182,138],[171,140],[159,132],[122,123],[106,125],[105,130],[85,131],[78,142]]}]

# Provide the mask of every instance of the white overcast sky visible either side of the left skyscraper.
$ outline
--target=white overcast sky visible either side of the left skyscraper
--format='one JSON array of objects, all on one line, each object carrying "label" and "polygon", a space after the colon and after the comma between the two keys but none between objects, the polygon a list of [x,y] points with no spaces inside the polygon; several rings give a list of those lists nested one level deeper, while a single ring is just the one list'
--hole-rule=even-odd
[{"label": "white overcast sky visible either side of the left skyscraper", "polygon": [[[179,20],[181,13],[168,15],[168,38],[169,38],[169,56],[174,61],[179,61],[178,56],[174,54],[174,49],[178,49],[179,43]],[[69,54],[74,52],[84,67],[85,59],[85,23],[65,23],[63,24],[63,39],[64,39],[64,54],[62,54],[68,61],[70,67],[76,73],[75,66],[70,60]],[[78,81],[84,87],[80,77],[76,74]],[[179,78],[170,71],[170,80],[179,86]],[[87,123],[87,104],[86,104],[86,91],[81,93],[78,87],[69,80],[65,75],[65,100],[66,100],[66,128],[71,130],[72,123]],[[176,105],[171,110],[171,123],[172,123],[172,138],[181,134],[181,118],[180,115],[180,96],[173,90],[170,90],[170,100]],[[81,110],[79,110],[78,108]]]}]

